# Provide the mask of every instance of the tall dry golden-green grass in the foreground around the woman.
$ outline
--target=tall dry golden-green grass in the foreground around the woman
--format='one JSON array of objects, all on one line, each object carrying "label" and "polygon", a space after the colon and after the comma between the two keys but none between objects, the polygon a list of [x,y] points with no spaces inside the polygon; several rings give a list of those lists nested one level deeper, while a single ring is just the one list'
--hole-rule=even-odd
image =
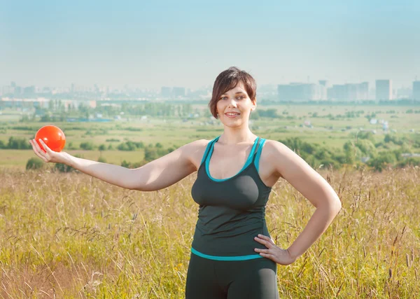
[{"label": "tall dry golden-green grass in the foreground around the woman", "polygon": [[[281,298],[419,298],[420,170],[325,172],[342,211],[304,256],[278,266]],[[194,175],[157,192],[84,174],[0,170],[0,296],[183,298]],[[287,247],[314,207],[285,181],[267,225]]]}]

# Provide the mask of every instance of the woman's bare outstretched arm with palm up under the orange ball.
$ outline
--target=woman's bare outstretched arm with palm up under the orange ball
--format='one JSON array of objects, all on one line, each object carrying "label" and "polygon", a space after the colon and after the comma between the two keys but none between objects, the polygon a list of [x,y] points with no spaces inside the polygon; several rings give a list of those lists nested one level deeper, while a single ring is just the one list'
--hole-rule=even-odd
[{"label": "woman's bare outstretched arm with palm up under the orange ball", "polygon": [[208,141],[193,141],[137,169],[76,158],[65,152],[57,153],[48,148],[41,139],[40,142],[46,153],[34,139],[30,141],[35,154],[44,162],[64,163],[80,172],[122,188],[153,191],[171,186],[195,172],[197,167],[193,163],[193,155],[197,153],[200,155]]}]

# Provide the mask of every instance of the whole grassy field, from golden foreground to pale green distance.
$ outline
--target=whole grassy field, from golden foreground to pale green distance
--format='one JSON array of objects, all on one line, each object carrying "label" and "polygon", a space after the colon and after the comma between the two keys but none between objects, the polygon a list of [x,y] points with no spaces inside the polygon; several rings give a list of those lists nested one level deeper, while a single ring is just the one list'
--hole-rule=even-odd
[{"label": "whole grassy field, from golden foreground to pale green distance", "polygon": [[[374,130],[374,143],[390,134],[419,153],[419,114],[408,112],[420,111],[416,106],[258,109],[276,109],[283,116],[252,120],[251,130],[267,139],[299,137],[342,150],[361,128]],[[388,121],[389,130],[370,125],[366,115],[372,113]],[[2,111],[3,144],[10,137],[32,138],[46,125],[20,118],[19,111]],[[303,125],[305,120],[311,125]],[[118,151],[125,141],[177,148],[223,132],[218,121],[204,116],[54,124],[66,134],[65,151],[117,165],[144,159],[145,148]],[[94,149],[80,149],[86,142]],[[102,144],[106,150],[99,151]],[[392,142],[386,146],[399,148]],[[196,174],[163,190],[139,192],[85,174],[52,172],[52,165],[25,170],[34,156],[31,150],[0,149],[0,298],[184,298],[198,211],[190,195]],[[280,298],[419,298],[420,168],[317,170],[339,195],[342,210],[295,263],[278,265]],[[313,213],[297,190],[278,181],[266,211],[276,244],[290,246]]]}]

